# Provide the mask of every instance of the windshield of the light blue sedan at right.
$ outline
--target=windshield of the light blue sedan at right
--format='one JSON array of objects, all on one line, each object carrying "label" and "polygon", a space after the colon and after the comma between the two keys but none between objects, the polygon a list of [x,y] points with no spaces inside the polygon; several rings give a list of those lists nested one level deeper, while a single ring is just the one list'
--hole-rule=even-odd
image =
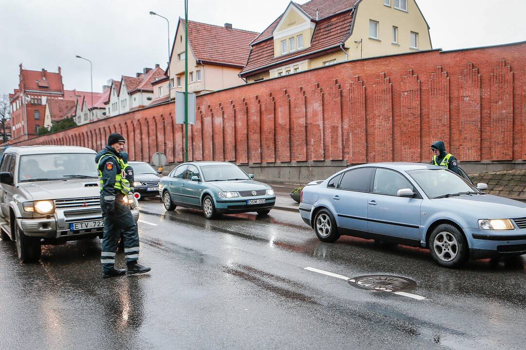
[{"label": "windshield of the light blue sedan at right", "polygon": [[446,169],[420,169],[407,172],[429,198],[480,191],[466,180]]}]

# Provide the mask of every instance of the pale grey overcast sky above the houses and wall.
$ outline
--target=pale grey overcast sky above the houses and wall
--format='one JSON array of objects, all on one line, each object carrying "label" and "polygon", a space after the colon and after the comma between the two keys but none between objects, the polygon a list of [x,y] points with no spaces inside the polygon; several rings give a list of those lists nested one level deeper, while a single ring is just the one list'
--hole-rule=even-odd
[{"label": "pale grey overcast sky above the houses and wall", "polygon": [[[381,2],[381,0],[376,0]],[[299,0],[298,3],[305,3]],[[444,50],[526,40],[524,0],[417,0],[431,27],[433,48]],[[287,7],[287,0],[189,0],[188,18],[262,31]],[[183,0],[0,0],[0,94],[18,87],[18,65],[57,71],[66,89],[102,91],[110,79],[133,76],[168,56]]]}]

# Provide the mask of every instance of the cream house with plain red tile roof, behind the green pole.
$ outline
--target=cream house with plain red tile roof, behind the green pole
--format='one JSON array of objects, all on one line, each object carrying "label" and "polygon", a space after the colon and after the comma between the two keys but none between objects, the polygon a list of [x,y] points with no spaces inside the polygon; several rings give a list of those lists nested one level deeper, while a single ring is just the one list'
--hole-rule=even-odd
[{"label": "cream house with plain red tile roof, behind the green pole", "polygon": [[[239,72],[245,66],[250,42],[258,33],[188,21],[188,91],[203,93],[245,83]],[[170,54],[170,96],[185,88],[185,20],[179,18]]]}]

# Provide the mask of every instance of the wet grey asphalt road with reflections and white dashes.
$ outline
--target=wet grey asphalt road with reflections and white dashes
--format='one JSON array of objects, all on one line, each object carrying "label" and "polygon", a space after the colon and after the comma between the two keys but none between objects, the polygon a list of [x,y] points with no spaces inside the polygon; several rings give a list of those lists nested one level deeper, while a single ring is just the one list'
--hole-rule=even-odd
[{"label": "wet grey asphalt road with reflections and white dashes", "polygon": [[[523,349],[524,258],[437,267],[426,250],[320,242],[297,213],[206,220],[141,202],[147,275],[100,278],[100,242],[45,246],[37,264],[0,241],[0,349]],[[151,224],[157,225],[153,226]],[[117,255],[124,266],[123,254]],[[416,300],[351,287],[394,274]]]}]

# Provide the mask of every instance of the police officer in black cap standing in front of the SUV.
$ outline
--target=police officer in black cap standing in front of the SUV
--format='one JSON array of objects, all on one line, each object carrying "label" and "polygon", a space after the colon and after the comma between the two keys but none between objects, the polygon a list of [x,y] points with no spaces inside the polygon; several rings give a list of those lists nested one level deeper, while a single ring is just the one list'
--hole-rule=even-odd
[{"label": "police officer in black cap standing in front of the SUV", "polygon": [[[95,157],[99,173],[100,207],[104,217],[104,236],[100,253],[103,278],[150,271],[149,267],[137,263],[139,258],[137,225],[128,205],[125,204],[128,200],[130,184],[125,178],[124,162],[120,159],[124,143],[122,135],[112,133],[108,137],[106,147]],[[126,270],[115,268],[115,252],[121,232],[124,237]]]}]

